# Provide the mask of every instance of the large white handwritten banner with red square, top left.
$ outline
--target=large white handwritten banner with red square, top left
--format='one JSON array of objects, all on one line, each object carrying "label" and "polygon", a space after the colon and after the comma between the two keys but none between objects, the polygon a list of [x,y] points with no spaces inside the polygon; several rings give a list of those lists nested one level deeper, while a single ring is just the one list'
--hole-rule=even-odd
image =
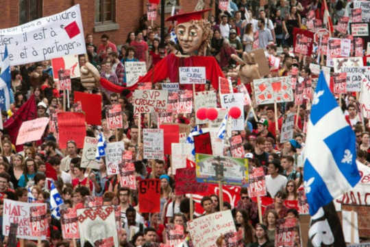
[{"label": "large white handwritten banner with red square, top left", "polygon": [[8,47],[10,65],[86,54],[79,5],[52,16],[0,30],[0,54]]}]

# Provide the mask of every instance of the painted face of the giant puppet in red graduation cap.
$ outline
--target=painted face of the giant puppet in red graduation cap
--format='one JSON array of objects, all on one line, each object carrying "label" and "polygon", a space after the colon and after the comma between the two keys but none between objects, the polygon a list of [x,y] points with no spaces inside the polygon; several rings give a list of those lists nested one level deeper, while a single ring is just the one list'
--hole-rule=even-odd
[{"label": "painted face of the giant puppet in red graduation cap", "polygon": [[182,50],[186,54],[195,54],[204,41],[204,32],[197,23],[181,23],[176,27],[176,35]]}]

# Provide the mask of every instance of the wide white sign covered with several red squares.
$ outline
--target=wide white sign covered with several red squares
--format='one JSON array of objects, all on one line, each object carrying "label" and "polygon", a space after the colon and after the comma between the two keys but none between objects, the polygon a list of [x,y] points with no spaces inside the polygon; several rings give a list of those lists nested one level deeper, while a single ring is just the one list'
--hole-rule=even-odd
[{"label": "wide white sign covered with several red squares", "polygon": [[292,102],[294,99],[289,76],[253,80],[256,104]]}]

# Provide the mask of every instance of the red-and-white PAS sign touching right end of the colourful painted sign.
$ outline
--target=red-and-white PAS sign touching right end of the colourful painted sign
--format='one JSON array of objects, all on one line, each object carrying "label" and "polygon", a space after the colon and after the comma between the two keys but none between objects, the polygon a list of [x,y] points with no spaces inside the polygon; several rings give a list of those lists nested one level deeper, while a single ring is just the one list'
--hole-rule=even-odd
[{"label": "red-and-white PAS sign touching right end of the colourful painted sign", "polygon": [[254,167],[249,174],[248,183],[249,197],[266,196],[266,179],[264,177],[263,167]]}]

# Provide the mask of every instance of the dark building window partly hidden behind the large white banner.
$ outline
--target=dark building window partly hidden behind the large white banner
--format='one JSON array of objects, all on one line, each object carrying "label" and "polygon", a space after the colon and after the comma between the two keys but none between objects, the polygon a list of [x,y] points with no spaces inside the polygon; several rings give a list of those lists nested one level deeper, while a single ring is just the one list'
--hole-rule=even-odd
[{"label": "dark building window partly hidden behind the large white banner", "polygon": [[19,24],[42,17],[42,0],[19,0]]}]

